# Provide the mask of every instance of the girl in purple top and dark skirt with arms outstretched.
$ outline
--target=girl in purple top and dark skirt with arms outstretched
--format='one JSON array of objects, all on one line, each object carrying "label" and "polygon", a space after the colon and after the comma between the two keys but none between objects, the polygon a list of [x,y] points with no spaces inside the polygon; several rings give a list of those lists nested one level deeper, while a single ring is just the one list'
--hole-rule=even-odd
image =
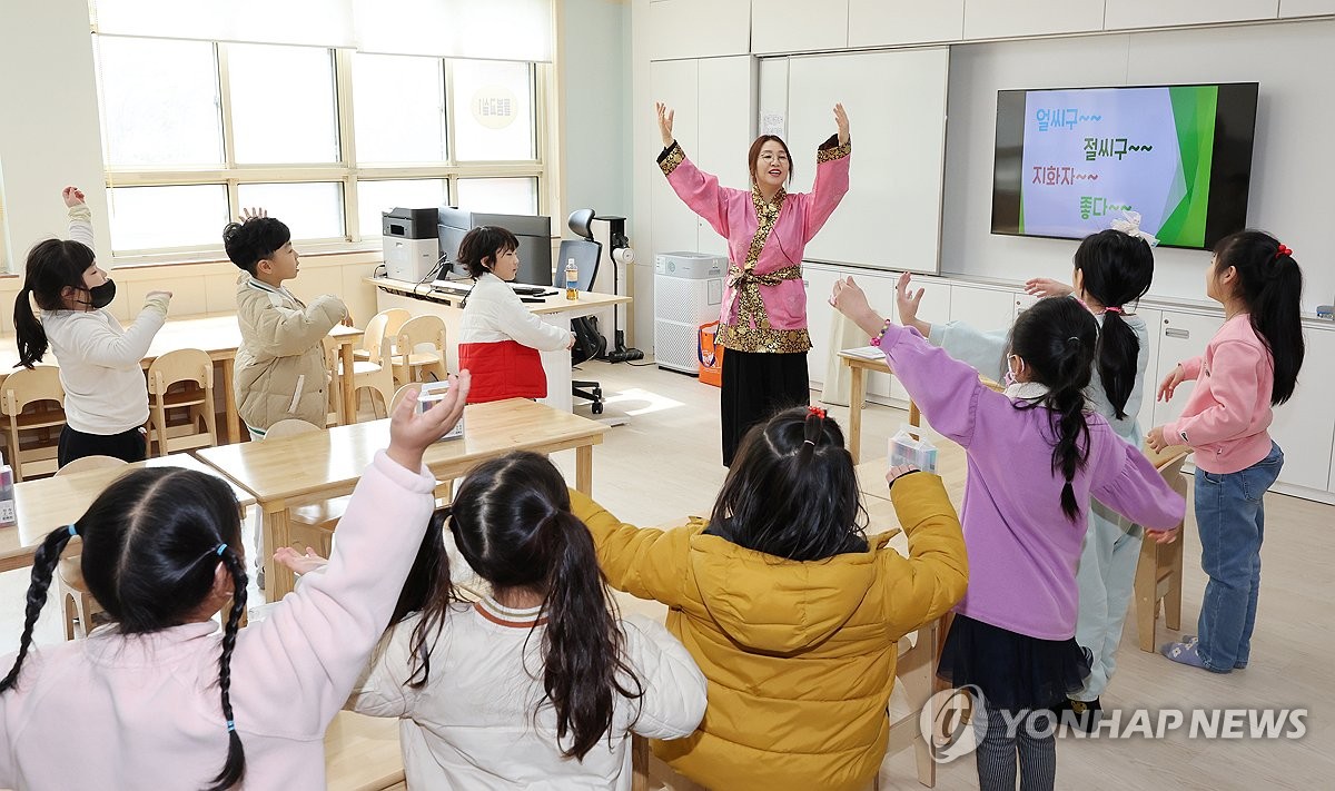
[{"label": "girl in purple top and dark skirt with arms outstretched", "polygon": [[[981,689],[989,722],[1051,716],[1089,673],[1076,643],[1076,561],[1091,498],[1176,537],[1185,504],[1139,448],[1087,412],[1097,322],[1075,299],[1040,299],[1020,314],[1004,355],[1005,393],[917,331],[884,319],[852,278],[830,303],[880,346],[932,428],[969,460],[964,540],[969,589],[937,675]],[[1003,715],[1005,719],[1003,719]],[[1045,736],[1045,738],[1044,738]],[[1052,728],[988,728],[976,752],[983,788],[1052,788]]]}]

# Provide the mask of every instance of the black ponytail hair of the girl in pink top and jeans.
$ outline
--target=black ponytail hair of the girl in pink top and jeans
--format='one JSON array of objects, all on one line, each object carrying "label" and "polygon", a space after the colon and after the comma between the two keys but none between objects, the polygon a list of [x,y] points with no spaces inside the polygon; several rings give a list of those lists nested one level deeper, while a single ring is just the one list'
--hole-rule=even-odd
[{"label": "black ponytail hair of the girl in pink top and jeans", "polygon": [[1215,274],[1238,270],[1235,297],[1247,306],[1252,329],[1275,363],[1271,405],[1294,396],[1303,367],[1303,271],[1294,251],[1264,231],[1239,231],[1215,245]]}]

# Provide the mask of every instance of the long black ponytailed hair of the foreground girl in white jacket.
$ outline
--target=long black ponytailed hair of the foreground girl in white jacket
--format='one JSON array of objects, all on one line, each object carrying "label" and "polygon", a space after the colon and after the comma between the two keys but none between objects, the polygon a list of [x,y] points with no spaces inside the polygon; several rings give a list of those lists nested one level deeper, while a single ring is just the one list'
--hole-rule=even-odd
[{"label": "long black ponytailed hair of the foreground girl in white jacket", "polygon": [[483,462],[459,486],[450,529],[493,589],[543,597],[545,704],[555,709],[562,752],[582,759],[609,734],[617,696],[637,699],[643,689],[625,660],[593,537],[570,512],[565,480],[537,453]]}]

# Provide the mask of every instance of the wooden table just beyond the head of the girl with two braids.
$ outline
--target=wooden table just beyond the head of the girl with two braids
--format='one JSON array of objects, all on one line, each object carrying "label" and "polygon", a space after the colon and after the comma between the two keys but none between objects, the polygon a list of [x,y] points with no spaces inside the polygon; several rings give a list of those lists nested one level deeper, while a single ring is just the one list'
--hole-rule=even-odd
[{"label": "wooden table just beyond the head of the girl with two braids", "polygon": [[[19,526],[0,528],[0,572],[31,567],[37,546],[51,530],[68,525],[81,517],[108,484],[132,469],[144,466],[183,466],[223,477],[218,470],[188,453],[172,453],[171,456],[154,457],[148,461],[124,466],[85,470],[15,484],[13,498],[19,514]],[[238,505],[242,508],[255,505],[255,498],[251,493],[235,484],[232,484],[232,494],[236,496]]]}]

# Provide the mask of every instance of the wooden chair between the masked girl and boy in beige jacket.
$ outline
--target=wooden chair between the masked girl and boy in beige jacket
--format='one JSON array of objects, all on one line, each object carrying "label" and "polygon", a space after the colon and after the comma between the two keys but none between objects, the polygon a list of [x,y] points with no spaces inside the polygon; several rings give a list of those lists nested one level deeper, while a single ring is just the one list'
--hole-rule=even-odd
[{"label": "wooden chair between the masked girl and boy in beige jacket", "polygon": [[[178,349],[159,355],[148,366],[148,397],[152,401],[151,421],[158,456],[218,445],[214,361],[208,353]],[[180,409],[187,412],[188,420],[170,424],[168,412]]]}]

